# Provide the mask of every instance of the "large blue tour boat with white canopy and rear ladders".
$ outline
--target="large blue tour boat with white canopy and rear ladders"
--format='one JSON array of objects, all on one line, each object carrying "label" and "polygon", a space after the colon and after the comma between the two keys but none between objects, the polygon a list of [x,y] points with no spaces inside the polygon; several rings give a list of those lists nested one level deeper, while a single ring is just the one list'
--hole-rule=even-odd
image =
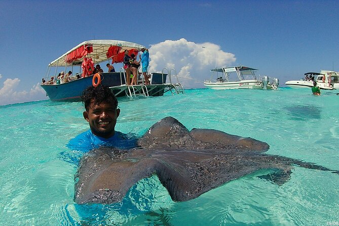
[{"label": "large blue tour boat with white canopy and rear ladders", "polygon": [[[44,80],[48,82],[43,83],[41,87],[52,101],[81,101],[83,90],[92,85],[96,86],[98,83],[108,86],[117,97],[162,96],[168,91],[172,94],[183,93],[183,87],[179,83],[174,68],[170,70],[164,68],[162,73],[149,73],[149,85],[145,85],[144,78],[138,71],[137,85],[126,86],[126,73],[123,67],[118,72],[94,74],[95,64],[122,63],[125,50],[128,50],[129,54],[137,55],[142,48],[145,47],[126,41],[85,41],[49,63],[44,77]],[[72,74],[75,74],[76,71],[79,72],[76,74],[77,76],[69,77],[70,81],[57,79],[58,73],[61,71],[65,73],[69,70],[72,71]],[[177,83],[172,83],[172,76],[176,77]]]}]

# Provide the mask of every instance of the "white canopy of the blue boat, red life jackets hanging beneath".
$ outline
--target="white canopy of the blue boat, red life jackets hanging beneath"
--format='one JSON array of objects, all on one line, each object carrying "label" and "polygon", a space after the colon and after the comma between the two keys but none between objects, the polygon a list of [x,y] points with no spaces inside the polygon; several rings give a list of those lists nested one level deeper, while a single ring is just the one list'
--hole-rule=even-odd
[{"label": "white canopy of the blue boat, red life jackets hanging beneath", "polygon": [[145,48],[136,43],[118,40],[90,40],[85,41],[52,61],[49,66],[81,65],[84,58],[91,57],[94,63],[101,63],[114,57],[112,52],[123,53],[125,50],[137,51]]}]

